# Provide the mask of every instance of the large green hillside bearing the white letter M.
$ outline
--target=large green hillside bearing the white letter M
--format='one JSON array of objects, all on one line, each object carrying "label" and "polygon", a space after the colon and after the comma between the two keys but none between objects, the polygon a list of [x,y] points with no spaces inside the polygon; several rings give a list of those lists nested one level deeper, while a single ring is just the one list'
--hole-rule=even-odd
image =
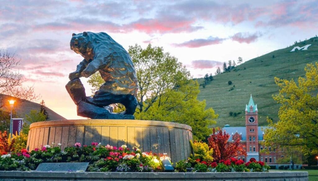
[{"label": "large green hillside bearing the white letter M", "polygon": [[[308,50],[290,52],[295,46],[303,47],[311,44]],[[253,58],[238,67],[220,75],[203,88],[200,86],[199,100],[206,100],[207,107],[212,107],[219,114],[217,126],[244,126],[245,105],[252,94],[254,103],[259,110],[259,125],[267,124],[266,117],[278,120],[278,105],[272,98],[278,94],[278,86],[274,77],[297,80],[304,76],[304,68],[308,63],[318,61],[318,38],[296,43],[295,45],[273,51],[266,55]],[[203,83],[203,79],[198,79]],[[232,81],[232,85],[228,85]],[[229,91],[233,85],[234,89]],[[240,113],[230,116],[229,113]]]}]

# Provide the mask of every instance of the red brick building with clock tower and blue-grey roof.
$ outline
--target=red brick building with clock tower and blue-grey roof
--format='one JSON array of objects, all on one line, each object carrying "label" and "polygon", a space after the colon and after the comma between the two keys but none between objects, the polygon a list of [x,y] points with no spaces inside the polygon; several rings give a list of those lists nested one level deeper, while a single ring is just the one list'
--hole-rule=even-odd
[{"label": "red brick building with clock tower and blue-grey roof", "polygon": [[[241,144],[246,146],[247,157],[239,156],[238,159],[249,161],[251,158],[266,162],[268,165],[278,165],[276,160],[284,157],[284,152],[275,150],[271,147],[267,148],[262,145],[264,142],[264,130],[267,126],[258,126],[258,109],[257,104],[254,104],[252,95],[250,101],[245,107],[245,126],[230,127],[225,125],[222,129],[231,136],[229,142],[233,142],[235,136],[239,136]],[[269,149],[269,154],[260,153],[263,149]]]}]

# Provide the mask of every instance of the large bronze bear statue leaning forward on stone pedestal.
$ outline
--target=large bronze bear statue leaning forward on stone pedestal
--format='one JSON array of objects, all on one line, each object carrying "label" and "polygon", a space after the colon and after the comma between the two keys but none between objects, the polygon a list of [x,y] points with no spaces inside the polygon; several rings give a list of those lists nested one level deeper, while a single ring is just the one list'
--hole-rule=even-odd
[{"label": "large bronze bear statue leaning forward on stone pedestal", "polygon": [[[77,105],[79,116],[91,119],[135,119],[138,83],[128,52],[106,33],[83,32],[72,35],[71,49],[84,57],[75,72],[69,74],[66,90]],[[80,77],[99,71],[105,81],[93,97],[86,97]],[[111,113],[105,107],[121,103],[126,111]]]}]

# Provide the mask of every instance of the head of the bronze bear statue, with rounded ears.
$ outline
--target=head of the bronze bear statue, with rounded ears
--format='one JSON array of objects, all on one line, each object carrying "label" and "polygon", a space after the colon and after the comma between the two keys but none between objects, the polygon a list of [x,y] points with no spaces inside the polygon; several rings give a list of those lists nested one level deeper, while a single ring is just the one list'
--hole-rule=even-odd
[{"label": "head of the bronze bear statue, with rounded ears", "polygon": [[88,41],[88,35],[87,32],[75,34],[73,33],[72,39],[70,42],[71,50],[73,50],[75,53],[78,53],[82,55],[85,58],[86,54],[89,54],[89,41]]}]

